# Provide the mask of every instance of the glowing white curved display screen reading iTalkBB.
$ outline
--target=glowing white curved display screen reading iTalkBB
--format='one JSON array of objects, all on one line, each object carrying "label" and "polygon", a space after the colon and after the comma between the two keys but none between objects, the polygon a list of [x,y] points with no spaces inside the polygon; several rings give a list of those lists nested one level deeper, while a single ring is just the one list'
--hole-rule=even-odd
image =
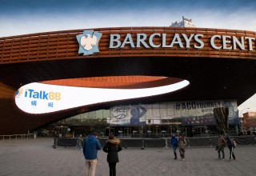
[{"label": "glowing white curved display screen reading iTalkBB", "polygon": [[171,85],[152,88],[102,89],[56,86],[34,82],[22,86],[16,92],[15,102],[18,108],[26,113],[45,114],[100,102],[111,102],[166,94],[182,89],[188,85],[189,82],[183,80]]}]

